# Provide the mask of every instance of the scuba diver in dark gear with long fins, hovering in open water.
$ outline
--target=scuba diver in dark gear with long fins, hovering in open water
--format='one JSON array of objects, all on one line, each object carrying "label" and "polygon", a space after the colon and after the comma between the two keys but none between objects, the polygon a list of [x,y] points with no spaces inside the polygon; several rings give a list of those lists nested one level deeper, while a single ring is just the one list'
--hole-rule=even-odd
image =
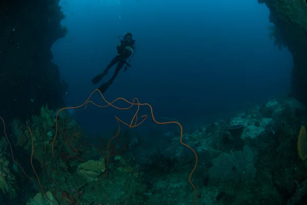
[{"label": "scuba diver in dark gear with long fins, hovering in open water", "polygon": [[[135,54],[135,53],[133,54],[133,56],[129,59],[128,62],[126,61],[131,56],[131,54],[133,52],[135,52],[135,50],[136,50],[136,44],[135,44],[136,41],[132,38],[132,34],[131,33],[126,33],[125,36],[118,36],[118,37],[120,39],[120,43],[116,46],[116,48],[117,48],[117,56],[115,56],[111,60],[111,62],[106,66],[106,69],[103,71],[103,73],[99,74],[98,76],[96,76],[95,78],[92,79],[93,84],[96,85],[108,73],[108,70],[111,69],[111,67],[113,65],[118,63],[112,78],[109,79],[108,81],[106,81],[105,83],[103,83],[98,88],[102,94],[113,83],[115,77],[118,75],[118,72],[122,69],[122,67],[125,64],[126,64],[126,67],[125,67],[124,71],[127,70],[128,66],[129,67],[131,66],[129,64],[129,62],[133,58],[133,56]],[[121,37],[123,37],[123,39],[121,39]]]}]

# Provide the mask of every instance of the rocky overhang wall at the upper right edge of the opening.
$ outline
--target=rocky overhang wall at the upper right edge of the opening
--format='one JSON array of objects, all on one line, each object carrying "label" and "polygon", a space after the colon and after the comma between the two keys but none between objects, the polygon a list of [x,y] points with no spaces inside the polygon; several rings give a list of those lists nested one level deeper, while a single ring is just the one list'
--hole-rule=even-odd
[{"label": "rocky overhang wall at the upper right edge of the opening", "polygon": [[276,44],[293,57],[291,96],[307,106],[307,4],[302,0],[258,0],[270,10],[270,21],[280,35]]}]

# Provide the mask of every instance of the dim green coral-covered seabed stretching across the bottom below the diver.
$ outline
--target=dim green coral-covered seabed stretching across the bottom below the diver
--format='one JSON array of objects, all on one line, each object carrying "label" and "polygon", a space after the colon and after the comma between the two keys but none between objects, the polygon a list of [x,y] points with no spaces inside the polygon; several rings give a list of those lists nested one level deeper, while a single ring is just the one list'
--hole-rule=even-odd
[{"label": "dim green coral-covered seabed stretching across the bottom below the diver", "polygon": [[[300,203],[307,194],[305,122],[303,105],[278,96],[233,118],[184,132],[186,145],[198,152],[199,165],[191,175],[197,203]],[[141,145],[141,136],[128,130],[89,140],[67,113],[55,115],[43,106],[32,121],[15,120],[12,128],[17,147],[31,154],[39,189],[49,190],[59,205],[194,202],[187,180],[193,153],[178,146],[177,127],[174,134],[167,133],[167,143],[162,133],[156,144]],[[46,203],[41,193],[35,194],[37,190],[28,195],[28,204]]]}]

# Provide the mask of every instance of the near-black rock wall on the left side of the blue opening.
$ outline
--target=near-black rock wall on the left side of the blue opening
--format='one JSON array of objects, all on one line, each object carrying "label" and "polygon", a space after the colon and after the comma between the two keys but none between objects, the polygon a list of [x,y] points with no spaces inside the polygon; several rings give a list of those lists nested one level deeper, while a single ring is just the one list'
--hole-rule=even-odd
[{"label": "near-black rock wall on the left side of the blue opening", "polygon": [[29,120],[43,104],[63,105],[65,85],[52,62],[52,44],[64,37],[58,0],[0,3],[0,116]]}]

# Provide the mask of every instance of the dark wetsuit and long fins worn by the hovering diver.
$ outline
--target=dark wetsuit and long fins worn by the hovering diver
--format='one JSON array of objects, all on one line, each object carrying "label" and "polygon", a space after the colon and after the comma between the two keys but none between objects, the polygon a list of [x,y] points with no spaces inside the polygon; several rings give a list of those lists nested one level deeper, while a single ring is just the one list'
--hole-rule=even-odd
[{"label": "dark wetsuit and long fins worn by the hovering diver", "polygon": [[125,48],[130,47],[132,50],[134,50],[135,49],[134,44],[135,44],[134,40],[130,40],[129,42],[121,40],[120,45],[117,47],[117,56],[115,56],[115,58],[111,60],[111,62],[106,66],[106,69],[104,70],[102,74],[99,74],[98,76],[92,79],[93,84],[97,84],[103,78],[103,76],[107,74],[108,70],[111,69],[113,65],[118,63],[112,78],[106,81],[105,83],[103,83],[98,88],[101,93],[104,93],[105,90],[113,83],[119,71],[125,65],[127,58],[131,56],[132,52]]}]

